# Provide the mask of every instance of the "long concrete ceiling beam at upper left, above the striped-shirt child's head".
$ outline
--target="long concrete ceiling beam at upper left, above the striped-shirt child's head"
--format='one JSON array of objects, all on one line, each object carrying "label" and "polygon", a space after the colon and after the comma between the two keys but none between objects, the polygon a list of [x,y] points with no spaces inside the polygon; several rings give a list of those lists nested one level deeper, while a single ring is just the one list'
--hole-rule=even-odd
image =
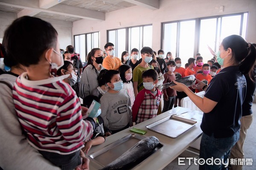
[{"label": "long concrete ceiling beam at upper left, above the striped-shirt child's head", "polygon": [[[57,0],[56,0],[57,1]],[[32,11],[47,12],[51,14],[65,15],[69,17],[77,17],[88,20],[105,20],[105,13],[99,11],[93,11],[85,8],[78,8],[74,6],[67,6],[64,4],[57,4],[48,9],[39,8],[39,1],[31,0],[0,0],[0,5],[13,6],[16,8],[24,8]]]}]

